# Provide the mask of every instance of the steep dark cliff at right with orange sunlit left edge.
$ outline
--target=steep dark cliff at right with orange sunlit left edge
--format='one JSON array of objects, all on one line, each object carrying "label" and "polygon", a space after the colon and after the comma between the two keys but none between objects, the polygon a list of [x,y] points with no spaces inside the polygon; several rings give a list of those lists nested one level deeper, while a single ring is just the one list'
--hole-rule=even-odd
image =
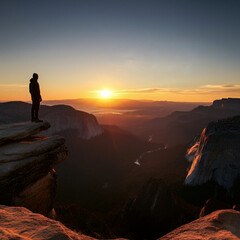
[{"label": "steep dark cliff at right with orange sunlit left edge", "polygon": [[240,117],[210,123],[196,144],[187,154],[193,161],[185,183],[214,181],[230,190],[240,174]]}]

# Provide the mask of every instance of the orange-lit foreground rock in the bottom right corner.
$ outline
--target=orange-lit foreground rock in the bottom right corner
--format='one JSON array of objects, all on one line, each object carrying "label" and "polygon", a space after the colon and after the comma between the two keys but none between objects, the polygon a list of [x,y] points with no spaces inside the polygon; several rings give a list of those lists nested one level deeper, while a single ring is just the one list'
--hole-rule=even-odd
[{"label": "orange-lit foreground rock in the bottom right corner", "polygon": [[183,225],[159,240],[235,240],[240,238],[240,213],[218,210]]}]

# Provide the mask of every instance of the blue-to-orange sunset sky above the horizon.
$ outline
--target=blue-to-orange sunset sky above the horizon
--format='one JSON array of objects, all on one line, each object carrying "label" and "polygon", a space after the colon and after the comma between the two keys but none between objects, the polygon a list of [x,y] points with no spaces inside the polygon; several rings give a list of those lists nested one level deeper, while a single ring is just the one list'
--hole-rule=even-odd
[{"label": "blue-to-orange sunset sky above the horizon", "polygon": [[0,0],[0,100],[240,96],[238,0]]}]

